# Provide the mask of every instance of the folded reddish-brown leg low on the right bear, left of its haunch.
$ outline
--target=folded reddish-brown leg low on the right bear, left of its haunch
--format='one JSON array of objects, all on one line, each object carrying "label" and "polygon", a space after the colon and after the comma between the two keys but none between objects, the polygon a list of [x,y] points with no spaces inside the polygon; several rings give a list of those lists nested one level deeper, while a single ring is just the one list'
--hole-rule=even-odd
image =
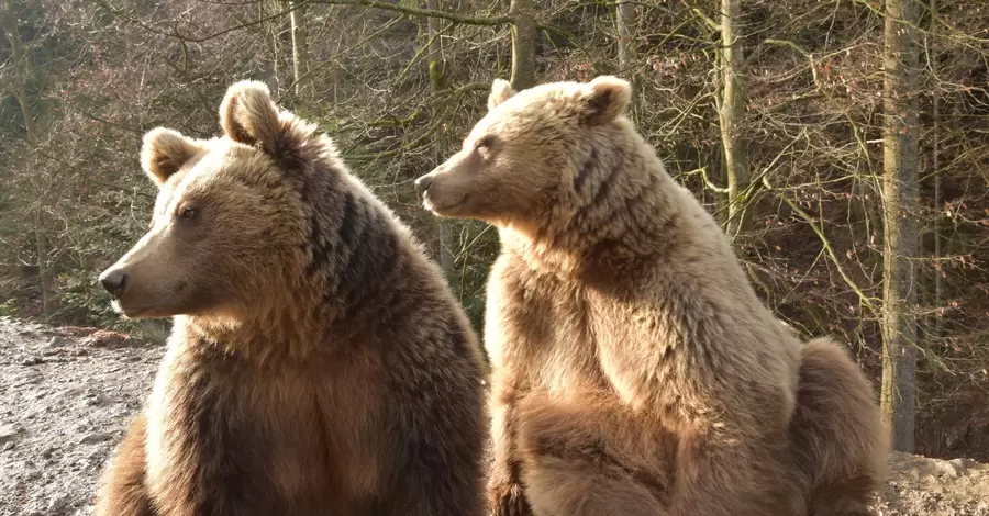
[{"label": "folded reddish-brown leg low on the right bear, left of its haunch", "polygon": [[518,450],[537,516],[669,516],[670,439],[610,393],[531,394],[519,404]]}]

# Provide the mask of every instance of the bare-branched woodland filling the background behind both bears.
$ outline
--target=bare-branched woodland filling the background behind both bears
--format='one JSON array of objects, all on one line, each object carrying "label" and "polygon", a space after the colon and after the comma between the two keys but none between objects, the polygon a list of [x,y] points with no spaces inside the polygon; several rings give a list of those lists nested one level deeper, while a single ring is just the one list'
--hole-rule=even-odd
[{"label": "bare-branched woodland filling the background behind both bears", "polygon": [[478,328],[498,234],[413,180],[491,80],[615,75],[668,171],[801,337],[847,345],[893,446],[989,460],[985,0],[0,0],[0,316],[160,340],[96,277],[146,231],[157,125],[240,79],[316,122]]}]

